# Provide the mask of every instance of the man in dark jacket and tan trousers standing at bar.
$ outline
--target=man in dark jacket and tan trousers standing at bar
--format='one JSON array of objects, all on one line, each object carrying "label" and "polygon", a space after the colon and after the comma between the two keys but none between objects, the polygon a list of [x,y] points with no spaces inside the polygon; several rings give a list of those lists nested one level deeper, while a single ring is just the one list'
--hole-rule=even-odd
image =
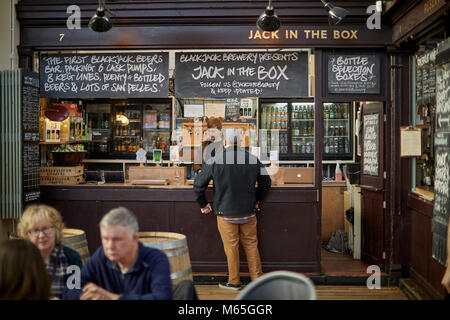
[{"label": "man in dark jacket and tan trousers standing at bar", "polygon": [[194,192],[202,213],[212,212],[205,191],[209,182],[214,181],[214,213],[228,263],[228,282],[221,282],[219,287],[239,290],[239,241],[247,256],[251,280],[263,274],[255,212],[260,210],[271,180],[258,158],[239,147],[237,129],[225,128],[223,133],[225,150],[203,166],[195,178]]}]

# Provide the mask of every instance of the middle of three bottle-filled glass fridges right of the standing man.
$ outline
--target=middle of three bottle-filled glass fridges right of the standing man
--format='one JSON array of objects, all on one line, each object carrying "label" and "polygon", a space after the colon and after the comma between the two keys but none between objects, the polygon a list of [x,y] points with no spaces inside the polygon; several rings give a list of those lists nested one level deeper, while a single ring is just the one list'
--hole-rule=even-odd
[{"label": "middle of three bottle-filled glass fridges right of the standing man", "polygon": [[291,148],[294,154],[314,153],[314,104],[292,103]]}]

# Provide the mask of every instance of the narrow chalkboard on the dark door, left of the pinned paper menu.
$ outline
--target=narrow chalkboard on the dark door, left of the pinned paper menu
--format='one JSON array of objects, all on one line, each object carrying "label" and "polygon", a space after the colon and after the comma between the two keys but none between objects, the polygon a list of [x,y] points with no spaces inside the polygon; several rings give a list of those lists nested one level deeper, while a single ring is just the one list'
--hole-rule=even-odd
[{"label": "narrow chalkboard on the dark door, left of the pinned paper menu", "polygon": [[366,114],[363,117],[363,173],[379,175],[379,114]]}]

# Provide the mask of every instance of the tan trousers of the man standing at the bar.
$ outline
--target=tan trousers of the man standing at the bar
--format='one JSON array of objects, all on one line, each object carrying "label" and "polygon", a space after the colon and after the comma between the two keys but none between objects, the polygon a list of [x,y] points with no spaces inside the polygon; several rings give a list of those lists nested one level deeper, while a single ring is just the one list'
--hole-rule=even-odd
[{"label": "tan trousers of the man standing at the bar", "polygon": [[261,258],[258,251],[258,237],[256,233],[256,217],[252,221],[242,224],[227,222],[217,217],[217,227],[222,237],[223,248],[227,256],[228,282],[240,284],[239,275],[239,240],[244,247],[247,257],[250,278],[255,280],[263,275]]}]

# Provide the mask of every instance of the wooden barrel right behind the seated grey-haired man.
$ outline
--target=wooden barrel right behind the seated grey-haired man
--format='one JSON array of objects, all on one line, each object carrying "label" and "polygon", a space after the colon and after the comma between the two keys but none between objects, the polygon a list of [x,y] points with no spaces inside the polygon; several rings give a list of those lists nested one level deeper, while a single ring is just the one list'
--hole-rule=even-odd
[{"label": "wooden barrel right behind the seated grey-haired man", "polygon": [[163,251],[169,258],[172,284],[193,280],[186,236],[173,232],[139,232],[139,240],[147,247]]}]

